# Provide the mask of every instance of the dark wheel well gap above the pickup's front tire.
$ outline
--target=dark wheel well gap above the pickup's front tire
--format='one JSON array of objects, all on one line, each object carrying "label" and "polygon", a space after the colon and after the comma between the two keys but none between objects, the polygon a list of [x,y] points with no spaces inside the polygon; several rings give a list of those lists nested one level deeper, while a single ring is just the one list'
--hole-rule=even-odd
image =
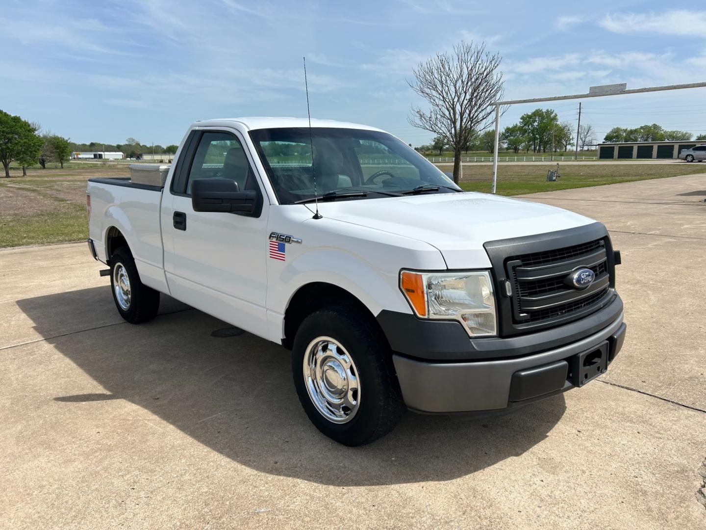
[{"label": "dark wheel well gap above the pickup's front tire", "polygon": [[333,285],[333,283],[307,283],[302,285],[297,293],[294,293],[292,300],[289,300],[287,310],[285,310],[285,338],[282,338],[282,346],[291,350],[294,336],[297,334],[301,322],[304,322],[304,319],[309,317],[311,313],[332,305],[355,307],[361,314],[370,317],[371,322],[374,323],[372,325],[378,325],[366,305],[347,290]]}]

